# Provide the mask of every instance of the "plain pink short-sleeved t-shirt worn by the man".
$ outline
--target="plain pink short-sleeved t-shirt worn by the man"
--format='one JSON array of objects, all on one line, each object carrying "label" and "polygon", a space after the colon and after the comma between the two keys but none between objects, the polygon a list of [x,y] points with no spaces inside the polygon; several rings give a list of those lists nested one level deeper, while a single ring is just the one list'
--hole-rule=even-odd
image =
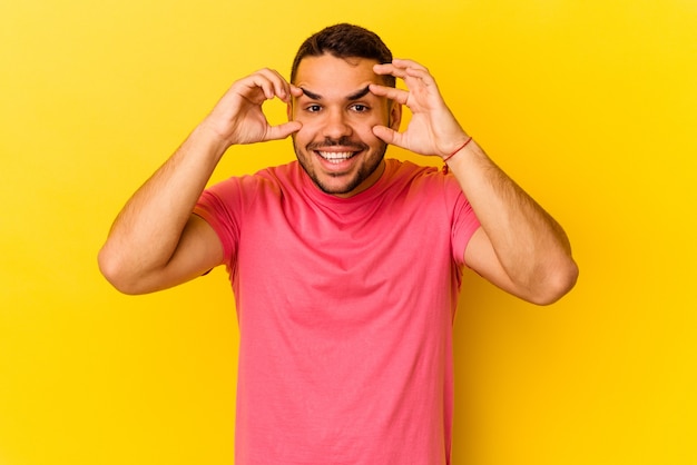
[{"label": "plain pink short-sleeved t-shirt worn by the man", "polygon": [[236,465],[450,463],[452,321],[479,227],[452,175],[387,159],[342,199],[291,162],[213,186],[195,212],[236,299]]}]

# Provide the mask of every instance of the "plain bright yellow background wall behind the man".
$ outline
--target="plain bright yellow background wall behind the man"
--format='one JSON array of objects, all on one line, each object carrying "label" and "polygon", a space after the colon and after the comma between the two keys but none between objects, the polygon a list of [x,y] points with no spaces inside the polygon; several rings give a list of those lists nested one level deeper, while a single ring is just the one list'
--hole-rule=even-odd
[{"label": "plain bright yellow background wall behind the man", "polygon": [[126,297],[96,254],[233,80],[340,21],[431,69],[581,268],[546,308],[467,276],[454,463],[697,464],[694,0],[2,1],[0,464],[233,462],[224,271]]}]

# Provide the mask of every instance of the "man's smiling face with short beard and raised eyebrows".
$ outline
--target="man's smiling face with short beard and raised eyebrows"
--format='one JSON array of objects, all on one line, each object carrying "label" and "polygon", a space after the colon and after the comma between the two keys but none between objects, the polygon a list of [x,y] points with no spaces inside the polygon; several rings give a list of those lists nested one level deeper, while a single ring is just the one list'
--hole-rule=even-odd
[{"label": "man's smiling face with short beard and raised eyebrows", "polygon": [[331,55],[304,58],[296,73],[303,90],[288,118],[303,128],[293,136],[295,155],[312,180],[327,194],[351,197],[371,187],[384,171],[386,144],[376,125],[399,129],[401,108],[376,97],[369,85],[383,85],[376,61]]}]

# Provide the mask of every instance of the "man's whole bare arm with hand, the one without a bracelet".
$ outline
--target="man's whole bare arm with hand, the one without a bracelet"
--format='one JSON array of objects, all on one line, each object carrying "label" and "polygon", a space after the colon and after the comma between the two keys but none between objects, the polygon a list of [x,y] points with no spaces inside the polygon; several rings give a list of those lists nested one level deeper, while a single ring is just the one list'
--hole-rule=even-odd
[{"label": "man's whole bare arm with hand, the one without a bracelet", "polygon": [[99,268],[125,294],[165,289],[200,276],[223,260],[213,228],[192,214],[225,151],[233,145],[284,139],[301,128],[271,126],[264,101],[297,93],[273,70],[235,82],[175,154],[116,218],[99,251]]}]

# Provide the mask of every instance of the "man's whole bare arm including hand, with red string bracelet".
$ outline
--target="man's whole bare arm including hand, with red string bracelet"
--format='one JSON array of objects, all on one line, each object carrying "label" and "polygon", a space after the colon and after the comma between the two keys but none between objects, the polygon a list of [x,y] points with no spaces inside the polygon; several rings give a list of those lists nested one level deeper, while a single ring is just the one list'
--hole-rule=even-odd
[{"label": "man's whole bare arm including hand, with red string bracelet", "polygon": [[[379,65],[409,91],[371,86],[375,95],[412,111],[402,133],[375,127],[377,137],[422,155],[446,159],[481,228],[464,253],[468,266],[502,289],[534,304],[551,304],[576,284],[578,267],[559,224],[513,182],[458,123],[429,71],[409,60]],[[464,147],[463,147],[464,146]]]}]

